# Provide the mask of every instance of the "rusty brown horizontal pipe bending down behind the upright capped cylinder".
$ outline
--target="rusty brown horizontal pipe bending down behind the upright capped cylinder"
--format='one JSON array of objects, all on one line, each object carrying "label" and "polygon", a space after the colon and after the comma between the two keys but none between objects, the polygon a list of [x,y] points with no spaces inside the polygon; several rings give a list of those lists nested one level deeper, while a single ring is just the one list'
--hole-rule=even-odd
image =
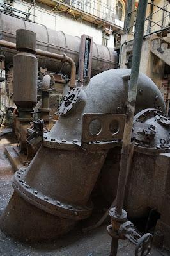
[{"label": "rusty brown horizontal pipe bending down behind the upright capped cylinder", "polygon": [[[0,40],[0,46],[6,47],[8,49],[16,50],[16,44],[5,41],[5,40]],[[36,49],[35,52],[36,52],[36,55],[39,55],[39,56],[54,58],[56,60],[61,60],[62,62],[68,62],[71,66],[70,87],[75,87],[76,66],[72,58],[66,55],[59,55],[57,53],[50,53],[49,51],[42,51],[39,49]]]}]

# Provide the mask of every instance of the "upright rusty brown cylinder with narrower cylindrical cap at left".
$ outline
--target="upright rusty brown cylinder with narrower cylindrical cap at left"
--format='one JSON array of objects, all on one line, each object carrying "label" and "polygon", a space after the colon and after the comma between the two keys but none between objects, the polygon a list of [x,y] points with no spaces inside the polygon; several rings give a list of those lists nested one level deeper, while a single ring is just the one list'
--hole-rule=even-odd
[{"label": "upright rusty brown cylinder with narrower cylindrical cap at left", "polygon": [[20,52],[13,57],[13,101],[18,108],[33,108],[37,101],[35,42],[35,33],[17,30],[17,49]]}]

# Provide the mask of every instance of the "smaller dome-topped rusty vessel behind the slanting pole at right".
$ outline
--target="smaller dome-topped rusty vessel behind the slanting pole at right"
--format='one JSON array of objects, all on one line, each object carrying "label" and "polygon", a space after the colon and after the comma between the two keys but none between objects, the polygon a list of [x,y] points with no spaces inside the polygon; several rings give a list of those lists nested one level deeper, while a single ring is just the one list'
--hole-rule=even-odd
[{"label": "smaller dome-topped rusty vessel behind the slanting pole at right", "polygon": [[[125,209],[130,218],[140,218],[148,214],[148,207],[161,211],[162,198],[164,197],[165,184],[167,179],[168,164],[163,164],[162,153],[170,151],[169,127],[166,124],[158,123],[158,110],[146,109],[134,117],[134,130],[132,138],[135,142],[134,157],[132,166],[128,173],[127,189],[125,193]],[[138,126],[146,132],[146,126],[152,126],[155,136],[146,141],[144,137],[138,137]],[[144,124],[144,125],[143,125]],[[135,136],[137,135],[137,136]],[[161,145],[160,140],[164,138],[166,144]],[[116,197],[115,187],[117,185],[121,148],[109,150],[105,164],[102,167],[102,192],[109,201]],[[111,158],[111,154],[114,158]],[[114,189],[112,189],[112,185]]]}]

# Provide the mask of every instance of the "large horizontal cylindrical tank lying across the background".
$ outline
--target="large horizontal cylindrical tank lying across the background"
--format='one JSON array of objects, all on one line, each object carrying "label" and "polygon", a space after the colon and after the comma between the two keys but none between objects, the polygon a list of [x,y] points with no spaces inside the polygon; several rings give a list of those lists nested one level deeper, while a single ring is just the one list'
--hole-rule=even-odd
[{"label": "large horizontal cylindrical tank lying across the background", "polygon": [[[14,42],[16,30],[22,28],[36,33],[36,49],[50,51],[52,53],[65,54],[72,58],[76,67],[79,65],[79,51],[81,38],[65,34],[63,31],[50,30],[45,25],[37,24],[24,19],[18,19],[10,15],[0,13],[1,40]],[[95,44],[93,42],[91,76],[108,69],[114,69],[118,65],[117,53],[114,49]],[[6,58],[6,64],[13,63],[14,51],[1,49],[1,55]],[[49,71],[58,71],[70,74],[69,66],[58,60],[38,56],[38,66],[47,67]]]}]

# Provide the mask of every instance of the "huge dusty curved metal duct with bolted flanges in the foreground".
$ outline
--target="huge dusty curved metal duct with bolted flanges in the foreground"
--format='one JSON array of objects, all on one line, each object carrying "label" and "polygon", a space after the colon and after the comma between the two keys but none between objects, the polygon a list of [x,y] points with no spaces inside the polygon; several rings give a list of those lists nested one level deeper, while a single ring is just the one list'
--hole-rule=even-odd
[{"label": "huge dusty curved metal duct with bolted flanges in the foreground", "polygon": [[[66,94],[42,147],[29,167],[13,176],[15,192],[1,216],[5,234],[24,241],[52,239],[91,215],[100,169],[109,148],[118,145],[115,139],[123,137],[129,75],[129,69],[105,71]],[[157,86],[144,74],[139,74],[138,91],[136,113],[153,106],[165,110]]]}]

